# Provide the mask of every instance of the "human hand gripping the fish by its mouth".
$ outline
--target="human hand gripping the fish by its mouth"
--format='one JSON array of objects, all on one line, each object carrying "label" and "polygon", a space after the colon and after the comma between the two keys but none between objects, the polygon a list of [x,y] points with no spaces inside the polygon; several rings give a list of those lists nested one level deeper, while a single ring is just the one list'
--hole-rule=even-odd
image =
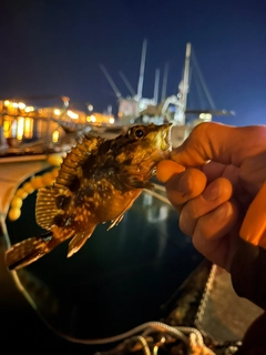
[{"label": "human hand gripping the fish by its mouth", "polygon": [[266,179],[266,126],[197,125],[157,165],[181,230],[208,260],[229,271],[246,211]]}]

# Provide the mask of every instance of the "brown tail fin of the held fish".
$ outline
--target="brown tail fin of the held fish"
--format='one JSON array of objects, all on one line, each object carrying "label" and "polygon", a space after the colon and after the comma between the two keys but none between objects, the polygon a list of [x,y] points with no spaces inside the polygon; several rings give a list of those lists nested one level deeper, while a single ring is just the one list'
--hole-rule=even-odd
[{"label": "brown tail fin of the held fish", "polygon": [[52,247],[48,244],[52,239],[52,232],[41,236],[33,236],[20,243],[12,245],[6,252],[6,265],[10,271],[22,268],[44,254],[49,253]]}]

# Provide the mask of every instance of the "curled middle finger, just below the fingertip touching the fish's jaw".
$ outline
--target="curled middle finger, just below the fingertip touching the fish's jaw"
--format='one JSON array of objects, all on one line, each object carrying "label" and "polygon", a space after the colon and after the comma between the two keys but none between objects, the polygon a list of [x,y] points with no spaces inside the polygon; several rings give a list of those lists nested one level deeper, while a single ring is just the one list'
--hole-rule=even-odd
[{"label": "curled middle finger, just below the fingertip touching the fish's jaw", "polygon": [[197,169],[174,175],[165,183],[166,196],[172,205],[180,211],[185,202],[198,196],[206,186],[206,175]]}]

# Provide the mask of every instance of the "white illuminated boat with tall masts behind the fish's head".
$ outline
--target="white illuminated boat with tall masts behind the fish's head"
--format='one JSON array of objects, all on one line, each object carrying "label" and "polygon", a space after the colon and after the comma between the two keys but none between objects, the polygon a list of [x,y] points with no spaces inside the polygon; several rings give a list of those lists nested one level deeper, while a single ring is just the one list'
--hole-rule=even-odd
[{"label": "white illuminated boat with tall masts behind the fish's head", "polygon": [[[106,80],[112,87],[119,103],[117,126],[129,128],[132,124],[162,124],[164,122],[173,123],[172,142],[173,146],[178,146],[188,136],[193,128],[202,122],[212,121],[213,116],[234,115],[234,111],[217,110],[207,89],[195,53],[191,43],[186,44],[185,61],[183,74],[177,88],[177,93],[166,97],[166,85],[168,75],[168,65],[165,64],[162,82],[162,95],[158,99],[160,89],[160,69],[155,71],[154,93],[153,98],[143,98],[144,69],[146,60],[147,41],[143,41],[140,77],[137,82],[137,91],[135,92],[126,77],[120,72],[131,97],[124,98],[110,73],[104,65],[100,65]],[[192,80],[194,79],[194,80]],[[188,109],[188,93],[192,94],[192,82],[195,81],[197,97],[201,97],[197,103],[201,109]],[[203,99],[204,98],[204,99]],[[197,100],[198,101],[198,98]],[[106,131],[114,130],[114,126]]]}]

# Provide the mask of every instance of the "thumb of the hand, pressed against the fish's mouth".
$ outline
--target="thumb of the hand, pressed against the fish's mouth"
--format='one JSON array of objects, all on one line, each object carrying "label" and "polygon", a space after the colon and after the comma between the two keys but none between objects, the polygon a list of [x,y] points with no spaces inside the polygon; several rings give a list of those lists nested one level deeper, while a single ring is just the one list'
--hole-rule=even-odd
[{"label": "thumb of the hand, pressed against the fish's mouth", "polygon": [[196,125],[171,159],[184,166],[198,166],[208,160],[241,166],[247,156],[266,151],[266,125],[233,126],[216,122]]}]

